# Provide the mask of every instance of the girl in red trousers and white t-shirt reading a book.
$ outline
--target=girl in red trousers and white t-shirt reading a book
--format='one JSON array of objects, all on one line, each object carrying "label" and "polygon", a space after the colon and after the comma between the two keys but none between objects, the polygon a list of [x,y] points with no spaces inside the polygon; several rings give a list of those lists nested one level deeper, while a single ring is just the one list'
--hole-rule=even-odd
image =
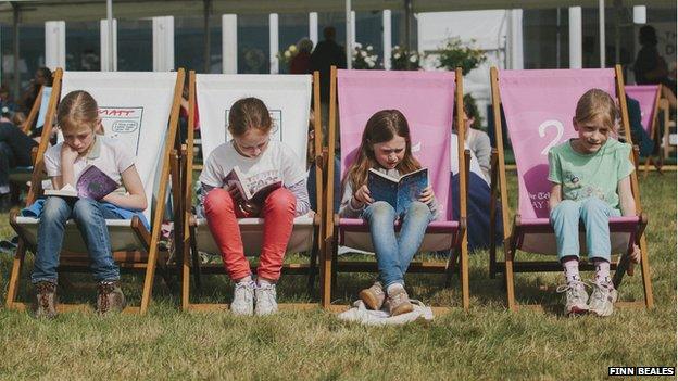
[{"label": "girl in red trousers and white t-shirt reading a book", "polygon": [[[304,163],[288,145],[271,140],[273,127],[264,102],[256,98],[238,100],[228,114],[233,139],[210,154],[200,174],[202,194],[206,194],[201,203],[204,215],[221,249],[224,267],[236,283],[230,304],[236,315],[263,316],[277,312],[276,282],[280,278],[292,224],[296,216],[310,209]],[[275,173],[282,187],[271,191],[262,203],[246,201],[238,187],[226,181],[233,172],[241,174],[241,183]],[[256,278],[244,257],[238,225],[238,218],[243,217],[264,219]]]}]

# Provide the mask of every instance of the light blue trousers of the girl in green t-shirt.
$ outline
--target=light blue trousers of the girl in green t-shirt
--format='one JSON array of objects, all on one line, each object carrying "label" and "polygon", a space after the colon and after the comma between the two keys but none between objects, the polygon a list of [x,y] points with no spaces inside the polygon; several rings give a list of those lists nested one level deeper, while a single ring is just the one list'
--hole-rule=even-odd
[{"label": "light blue trousers of the girl in green t-shirt", "polygon": [[558,261],[565,256],[579,257],[579,220],[586,229],[589,259],[610,262],[610,217],[622,213],[606,202],[589,198],[581,201],[563,200],[551,211],[550,219],[555,231]]}]

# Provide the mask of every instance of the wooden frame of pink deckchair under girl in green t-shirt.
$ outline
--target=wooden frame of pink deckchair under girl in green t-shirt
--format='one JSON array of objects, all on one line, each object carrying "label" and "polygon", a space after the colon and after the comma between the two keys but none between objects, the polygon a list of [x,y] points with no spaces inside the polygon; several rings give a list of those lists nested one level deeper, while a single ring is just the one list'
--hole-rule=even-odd
[{"label": "wooden frame of pink deckchair under girl in green t-shirt", "polygon": [[[626,93],[624,91],[624,79],[622,74],[622,66],[615,66],[616,78],[616,92],[617,99],[622,110],[622,125],[624,128],[625,137],[631,142],[630,124],[628,116],[628,109],[626,107]],[[517,237],[514,236],[516,227],[520,226],[520,216],[516,215],[514,221],[511,225],[508,218],[511,209],[508,207],[508,195],[506,191],[506,164],[503,149],[503,135],[501,130],[501,115],[500,105],[501,99],[499,94],[499,71],[497,67],[490,69],[490,86],[492,91],[492,113],[494,116],[494,136],[497,148],[492,149],[491,158],[491,183],[490,183],[490,237],[494,237],[494,223],[497,219],[498,207],[497,203],[501,202],[501,213],[503,221],[503,238],[504,238],[504,261],[497,261],[497,243],[494,241],[490,244],[490,277],[494,278],[497,272],[503,272],[504,282],[506,288],[506,303],[511,310],[517,310],[518,305],[515,300],[514,289],[514,272],[539,272],[539,271],[562,271],[562,265],[557,261],[531,261],[531,262],[516,262],[515,254],[517,251]],[[645,241],[644,228],[648,224],[646,216],[642,213],[642,205],[640,203],[640,191],[638,186],[638,147],[633,148],[630,154],[630,160],[636,166],[636,170],[631,174],[631,191],[633,193],[633,200],[636,202],[636,212],[640,216],[639,229],[636,236],[636,241],[641,250],[641,272],[642,284],[644,289],[644,306],[652,308],[654,300],[652,295],[652,283],[650,279],[650,261],[648,257],[648,243]],[[511,226],[511,228],[510,228]],[[619,264],[611,264],[612,269],[616,269],[613,278],[615,288],[618,288],[624,272],[629,268],[628,253],[624,253],[619,258]],[[581,269],[590,270],[592,266],[586,261],[581,261],[579,264]],[[639,307],[643,305],[643,302],[617,302],[617,306],[632,306]],[[526,305],[529,307],[541,308],[541,305]]]}]

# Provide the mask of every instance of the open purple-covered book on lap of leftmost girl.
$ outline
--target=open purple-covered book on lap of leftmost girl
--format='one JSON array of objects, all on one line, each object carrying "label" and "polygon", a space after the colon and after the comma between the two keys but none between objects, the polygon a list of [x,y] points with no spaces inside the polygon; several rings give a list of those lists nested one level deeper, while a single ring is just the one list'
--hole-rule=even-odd
[{"label": "open purple-covered book on lap of leftmost girl", "polygon": [[115,180],[97,168],[96,165],[90,164],[78,177],[75,188],[67,183],[60,190],[46,190],[45,195],[101,200],[116,189],[117,182]]}]

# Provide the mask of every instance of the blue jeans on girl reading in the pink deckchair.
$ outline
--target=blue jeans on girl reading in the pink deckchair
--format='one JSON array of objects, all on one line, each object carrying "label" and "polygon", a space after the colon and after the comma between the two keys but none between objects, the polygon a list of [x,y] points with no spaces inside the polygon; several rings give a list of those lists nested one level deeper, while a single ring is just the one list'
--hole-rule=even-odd
[{"label": "blue jeans on girl reading in the pink deckchair", "polygon": [[432,218],[428,205],[418,201],[410,205],[403,215],[398,238],[393,229],[398,216],[389,203],[377,201],[368,205],[362,217],[369,224],[382,285],[388,288],[393,283],[404,284],[410,262],[419,250],[426,227]]}]

